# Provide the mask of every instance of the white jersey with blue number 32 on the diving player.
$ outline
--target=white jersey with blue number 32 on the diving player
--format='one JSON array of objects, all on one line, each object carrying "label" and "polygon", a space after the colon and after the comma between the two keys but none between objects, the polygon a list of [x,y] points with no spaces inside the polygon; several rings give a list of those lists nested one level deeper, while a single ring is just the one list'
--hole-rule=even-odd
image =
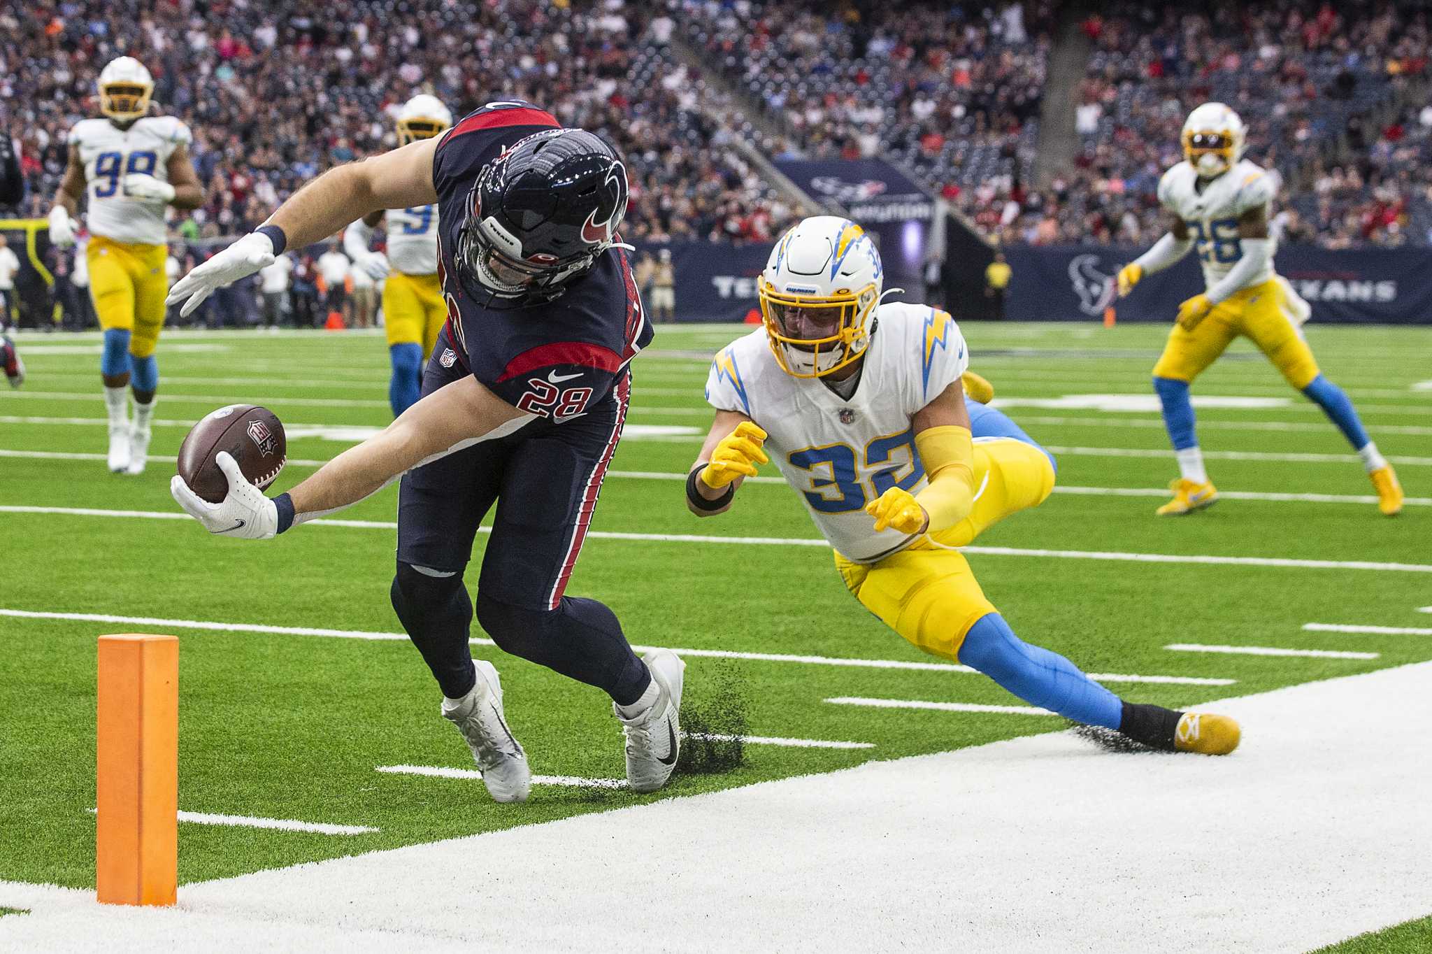
[{"label": "white jersey with blue number 32 on the diving player", "polygon": [[942,311],[891,302],[874,321],[861,381],[848,401],[819,380],[782,371],[765,329],[717,352],[706,378],[707,403],[739,411],[766,431],[766,451],[822,536],[856,563],[874,563],[916,539],[898,530],[875,533],[865,504],[891,487],[925,487],[911,417],[969,365],[959,325]]}]

